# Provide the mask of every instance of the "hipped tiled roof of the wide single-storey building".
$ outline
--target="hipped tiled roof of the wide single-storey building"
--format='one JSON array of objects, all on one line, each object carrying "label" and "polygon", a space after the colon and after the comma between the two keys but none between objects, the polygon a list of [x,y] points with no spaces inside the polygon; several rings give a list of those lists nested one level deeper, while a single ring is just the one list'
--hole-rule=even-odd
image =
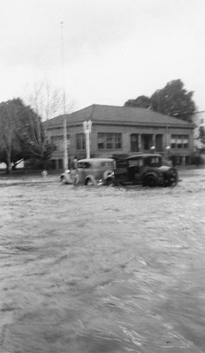
[{"label": "hipped tiled roof of the wide single-storey building", "polygon": [[[83,123],[86,119],[91,119],[93,123],[99,124],[137,124],[148,126],[170,126],[189,127],[192,128],[193,124],[182,119],[177,119],[172,116],[166,116],[150,109],[137,108],[137,107],[115,107],[112,105],[93,104],[77,112],[66,115],[67,124]],[[49,120],[49,126],[57,126],[62,124],[63,116]]]}]

